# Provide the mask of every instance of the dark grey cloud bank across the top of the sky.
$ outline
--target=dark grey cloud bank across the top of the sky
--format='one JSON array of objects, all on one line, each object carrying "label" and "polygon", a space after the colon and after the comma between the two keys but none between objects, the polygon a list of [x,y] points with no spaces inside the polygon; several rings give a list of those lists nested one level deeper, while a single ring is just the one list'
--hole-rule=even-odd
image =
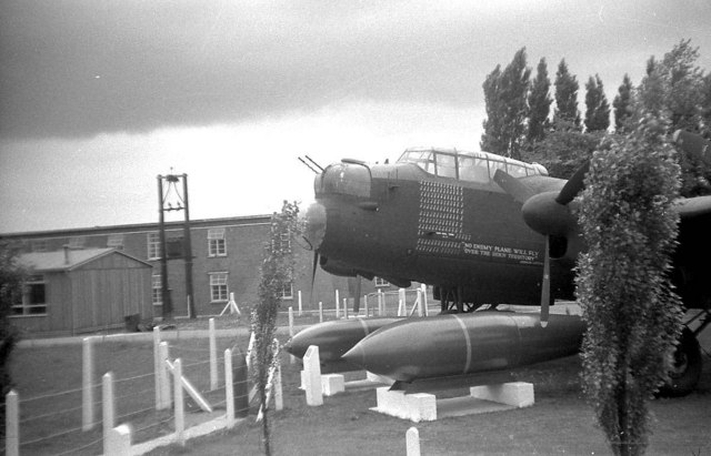
[{"label": "dark grey cloud bank across the top of the sky", "polygon": [[[629,43],[637,55],[707,36],[711,17],[700,1],[622,11],[611,2],[435,3],[4,1],[0,135],[140,132],[349,100],[469,105],[493,65],[522,45],[573,62]],[[531,60],[540,57],[550,67],[559,58]]]}]

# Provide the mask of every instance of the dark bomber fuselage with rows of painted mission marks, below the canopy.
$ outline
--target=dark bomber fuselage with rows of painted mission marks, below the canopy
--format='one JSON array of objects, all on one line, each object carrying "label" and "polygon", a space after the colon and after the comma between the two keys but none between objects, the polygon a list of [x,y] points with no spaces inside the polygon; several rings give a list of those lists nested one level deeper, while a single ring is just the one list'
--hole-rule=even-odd
[{"label": "dark bomber fuselage with rows of painted mission marks, below the canopy", "polygon": [[[524,179],[550,190],[564,183]],[[544,237],[525,225],[520,203],[481,181],[435,175],[413,163],[327,168],[308,214],[311,225],[324,222],[317,241],[322,267],[402,286],[417,281],[459,288],[468,303],[539,305]],[[561,259],[553,265],[554,297],[572,297],[572,264]]]}]

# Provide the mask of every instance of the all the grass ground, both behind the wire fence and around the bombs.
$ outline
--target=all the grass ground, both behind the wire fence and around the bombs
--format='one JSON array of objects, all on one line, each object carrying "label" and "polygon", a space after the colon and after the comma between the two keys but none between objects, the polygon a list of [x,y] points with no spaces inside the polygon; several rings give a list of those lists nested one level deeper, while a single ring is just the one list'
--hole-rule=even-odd
[{"label": "all the grass ground, both behind the wire fence and around the bombs", "polygon": [[[308,324],[312,318],[297,317],[296,324]],[[227,320],[217,322],[218,328],[236,324]],[[244,322],[240,325],[247,326]],[[207,320],[179,323],[180,331],[194,328],[207,328]],[[707,352],[711,351],[710,333],[708,330],[701,338]],[[282,342],[286,337],[280,336]],[[234,344],[244,349],[247,336],[220,338],[218,349],[222,353]],[[109,369],[114,372],[118,414],[124,416],[118,422],[132,424],[134,442],[171,433],[171,413],[152,409],[152,343],[103,343],[98,344],[96,351],[97,377]],[[171,342],[171,357],[174,356],[180,356],[183,364],[190,366],[187,375],[196,387],[208,389],[207,338]],[[705,367],[697,392],[684,398],[659,399],[651,404],[654,422],[648,454],[711,453],[711,359],[705,354],[703,358]],[[371,412],[369,408],[375,406],[374,391],[348,392],[324,398],[321,407],[309,407],[303,392],[298,389],[299,364],[289,364],[284,356],[282,365],[286,408],[271,415],[276,455],[403,455],[404,435],[411,426],[420,432],[423,455],[610,454],[604,436],[595,427],[591,408],[582,398],[577,356],[518,372],[519,379],[535,385],[533,407],[419,424]],[[78,389],[81,385],[81,345],[20,348],[13,355],[12,373],[21,399],[21,443],[81,426],[81,393]],[[61,392],[69,393],[53,395]],[[224,406],[219,404],[223,401],[220,391],[207,394],[218,408]],[[44,398],[26,402],[32,397]],[[99,387],[96,401],[100,397]],[[151,454],[262,454],[261,427],[254,423],[254,412],[236,429],[190,440],[184,448],[164,447]],[[47,416],[36,418],[41,415]],[[193,411],[190,415],[199,418],[201,413]],[[100,418],[100,406],[97,405],[97,419]],[[100,454],[101,428],[23,445],[20,450],[33,455]]]}]

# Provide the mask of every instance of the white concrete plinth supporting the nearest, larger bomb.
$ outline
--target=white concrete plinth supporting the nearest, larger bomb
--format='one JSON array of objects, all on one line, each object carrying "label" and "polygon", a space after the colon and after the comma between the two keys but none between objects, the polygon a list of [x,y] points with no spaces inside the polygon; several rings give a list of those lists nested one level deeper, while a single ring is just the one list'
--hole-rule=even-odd
[{"label": "white concrete plinth supporting the nearest, larger bomb", "polygon": [[414,423],[438,418],[503,412],[533,405],[533,385],[511,382],[474,386],[469,396],[437,399],[429,393],[405,394],[401,391],[377,389],[378,406],[371,408],[385,415]]}]

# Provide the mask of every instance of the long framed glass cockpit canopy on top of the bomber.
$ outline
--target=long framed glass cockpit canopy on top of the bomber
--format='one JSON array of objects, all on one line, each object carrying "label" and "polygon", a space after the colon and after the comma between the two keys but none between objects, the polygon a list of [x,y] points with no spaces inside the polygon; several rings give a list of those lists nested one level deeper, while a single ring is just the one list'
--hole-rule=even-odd
[{"label": "long framed glass cockpit canopy on top of the bomber", "polygon": [[410,148],[398,159],[398,163],[414,163],[430,174],[481,184],[490,183],[497,170],[503,170],[513,178],[548,175],[548,170],[538,163],[457,149]]}]

